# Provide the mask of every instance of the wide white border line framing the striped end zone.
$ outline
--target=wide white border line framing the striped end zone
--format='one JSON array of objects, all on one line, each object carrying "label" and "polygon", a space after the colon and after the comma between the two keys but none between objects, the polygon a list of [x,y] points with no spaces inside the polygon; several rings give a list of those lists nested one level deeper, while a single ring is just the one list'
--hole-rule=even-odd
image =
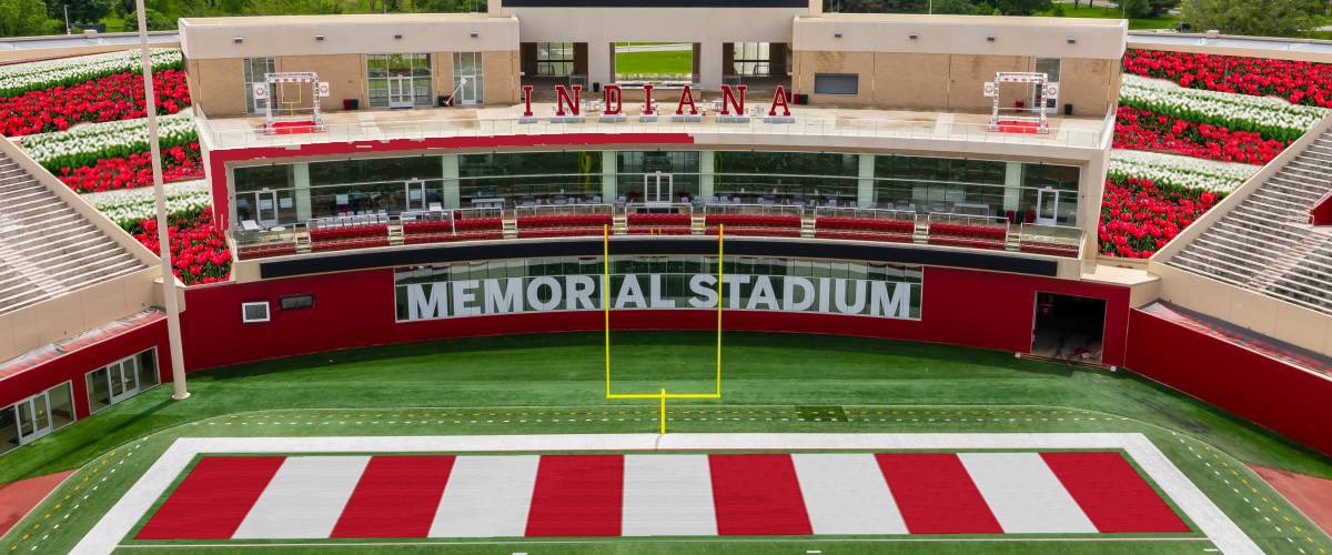
[{"label": "wide white border line framing the striped end zone", "polygon": [[[313,438],[180,438],[75,546],[109,554],[176,480],[196,454],[225,453],[438,453],[438,451],[654,451],[654,450],[948,450],[1123,449],[1212,543],[1228,554],[1261,554],[1147,437],[1136,433],[1050,434],[557,434]],[[810,538],[806,542],[814,542]]]}]

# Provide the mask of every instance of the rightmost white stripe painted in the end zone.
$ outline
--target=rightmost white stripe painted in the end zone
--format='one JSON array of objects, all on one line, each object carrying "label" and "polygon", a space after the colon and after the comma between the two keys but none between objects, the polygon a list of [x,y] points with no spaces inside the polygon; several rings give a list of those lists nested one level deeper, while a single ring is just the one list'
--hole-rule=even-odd
[{"label": "rightmost white stripe painted in the end zone", "polygon": [[959,453],[958,458],[1006,534],[1096,532],[1040,454]]}]

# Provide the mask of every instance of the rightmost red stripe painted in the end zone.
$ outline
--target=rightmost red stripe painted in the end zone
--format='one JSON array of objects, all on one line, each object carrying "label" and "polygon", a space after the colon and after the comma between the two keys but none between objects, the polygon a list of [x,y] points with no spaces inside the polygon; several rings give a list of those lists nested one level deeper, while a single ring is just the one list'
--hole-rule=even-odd
[{"label": "rightmost red stripe painted in the end zone", "polygon": [[1119,453],[1042,453],[1040,458],[1098,531],[1192,531]]}]

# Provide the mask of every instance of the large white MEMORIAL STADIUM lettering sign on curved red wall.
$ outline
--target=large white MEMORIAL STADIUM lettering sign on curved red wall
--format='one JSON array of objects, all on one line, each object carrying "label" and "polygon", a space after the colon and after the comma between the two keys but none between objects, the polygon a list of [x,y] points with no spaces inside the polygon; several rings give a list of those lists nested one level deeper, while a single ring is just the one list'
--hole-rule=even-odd
[{"label": "large white MEMORIAL STADIUM lettering sign on curved red wall", "polygon": [[[687,277],[687,281],[683,279]],[[602,310],[601,276],[541,276],[453,279],[397,286],[398,321]],[[611,276],[610,307],[715,309],[714,274]],[[904,281],[746,276],[723,277],[730,310],[825,313],[911,319],[919,314],[920,283]]]}]

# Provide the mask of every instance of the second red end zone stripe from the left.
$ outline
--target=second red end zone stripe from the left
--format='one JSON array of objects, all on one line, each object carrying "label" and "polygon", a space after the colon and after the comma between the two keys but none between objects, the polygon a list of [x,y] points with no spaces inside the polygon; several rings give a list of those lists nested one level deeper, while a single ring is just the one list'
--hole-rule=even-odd
[{"label": "second red end zone stripe from the left", "polygon": [[333,538],[425,538],[453,457],[372,457]]}]

